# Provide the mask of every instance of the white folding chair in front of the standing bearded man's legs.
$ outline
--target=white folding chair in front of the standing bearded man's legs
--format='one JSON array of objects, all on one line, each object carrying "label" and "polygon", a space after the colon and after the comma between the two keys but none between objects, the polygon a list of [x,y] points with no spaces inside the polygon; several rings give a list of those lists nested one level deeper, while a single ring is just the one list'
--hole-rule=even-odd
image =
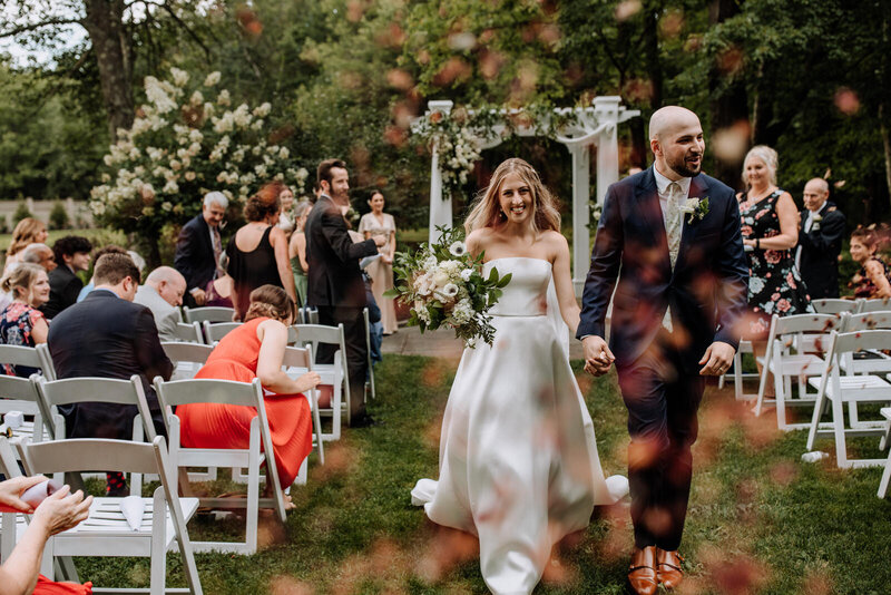
[{"label": "white folding chair in front of the standing bearded man's legs", "polygon": [[[337,345],[332,363],[314,363],[313,371],[322,377],[322,384],[333,387],[331,396],[331,409],[322,409],[322,413],[331,416],[331,432],[322,432],[325,440],[340,440],[341,417],[346,418],[350,423],[350,372],[346,368],[346,339],[343,332],[343,324],[336,326],[325,326],[322,324],[295,324],[297,330],[298,347],[312,347],[313,353],[319,353],[321,343]],[[356,398],[359,398],[356,396]]]}]

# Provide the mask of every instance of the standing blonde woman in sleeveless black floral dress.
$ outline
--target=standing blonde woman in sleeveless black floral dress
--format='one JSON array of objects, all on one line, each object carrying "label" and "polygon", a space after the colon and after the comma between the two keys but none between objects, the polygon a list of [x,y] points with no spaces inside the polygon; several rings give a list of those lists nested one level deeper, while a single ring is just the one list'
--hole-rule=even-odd
[{"label": "standing blonde woman in sleeveless black floral dress", "polygon": [[[750,316],[743,338],[756,358],[764,354],[773,314],[813,312],[807,289],[795,269],[799,209],[792,195],[776,186],[777,155],[765,145],[752,147],[743,162],[748,189],[737,196],[743,244],[748,256]],[[758,370],[760,372],[761,370]],[[772,396],[773,382],[766,387]]]}]

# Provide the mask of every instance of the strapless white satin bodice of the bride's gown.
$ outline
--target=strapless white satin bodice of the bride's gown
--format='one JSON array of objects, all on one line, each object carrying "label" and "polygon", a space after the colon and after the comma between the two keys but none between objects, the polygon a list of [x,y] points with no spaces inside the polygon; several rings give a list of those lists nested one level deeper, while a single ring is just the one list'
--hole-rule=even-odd
[{"label": "strapless white satin bodice of the bride's gown", "polygon": [[541,259],[509,256],[495,259],[482,265],[484,275],[492,267],[499,276],[510,273],[510,282],[489,314],[493,316],[544,316],[548,310],[548,283],[551,266]]}]

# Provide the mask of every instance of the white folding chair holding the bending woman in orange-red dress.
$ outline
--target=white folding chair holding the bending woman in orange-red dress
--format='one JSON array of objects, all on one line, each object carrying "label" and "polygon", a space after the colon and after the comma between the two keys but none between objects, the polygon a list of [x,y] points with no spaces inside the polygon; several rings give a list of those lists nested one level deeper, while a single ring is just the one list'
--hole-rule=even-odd
[{"label": "white folding chair holding the bending woman in orange-red dress", "polygon": [[[285,520],[285,500],[278,482],[275,466],[270,423],[263,403],[263,387],[260,379],[253,382],[234,382],[231,380],[192,379],[164,382],[155,378],[155,391],[166,414],[167,435],[170,439],[170,465],[176,467],[237,467],[247,468],[247,499],[200,498],[202,506],[212,508],[246,508],[246,528],[244,542],[194,542],[196,552],[223,552],[251,555],[257,550],[257,518],[260,506],[273,506],[278,517]],[[257,414],[251,420],[248,448],[186,448],[182,446],[179,418],[173,413],[173,407],[192,403],[221,403],[249,407]],[[261,443],[263,450],[261,451]],[[272,478],[273,498],[260,497],[260,466],[266,462],[268,476]],[[172,476],[175,474],[170,474]],[[180,476],[182,477],[182,476]]]}]

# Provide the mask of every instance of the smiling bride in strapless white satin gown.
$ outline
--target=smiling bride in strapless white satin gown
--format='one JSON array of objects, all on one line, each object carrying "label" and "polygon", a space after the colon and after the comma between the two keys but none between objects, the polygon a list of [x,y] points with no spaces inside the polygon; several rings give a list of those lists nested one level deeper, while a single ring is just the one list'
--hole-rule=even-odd
[{"label": "smiling bride in strapless white satin gown", "polygon": [[[569,367],[579,306],[555,199],[522,159],[498,166],[464,223],[483,274],[511,273],[490,310],[491,347],[466,349],[446,406],[439,480],[412,503],[480,540],[490,591],[528,594],[554,544],[588,526],[595,505],[627,492],[604,479],[594,425]],[[562,320],[560,320],[560,318]],[[564,324],[565,323],[565,324]]]}]

